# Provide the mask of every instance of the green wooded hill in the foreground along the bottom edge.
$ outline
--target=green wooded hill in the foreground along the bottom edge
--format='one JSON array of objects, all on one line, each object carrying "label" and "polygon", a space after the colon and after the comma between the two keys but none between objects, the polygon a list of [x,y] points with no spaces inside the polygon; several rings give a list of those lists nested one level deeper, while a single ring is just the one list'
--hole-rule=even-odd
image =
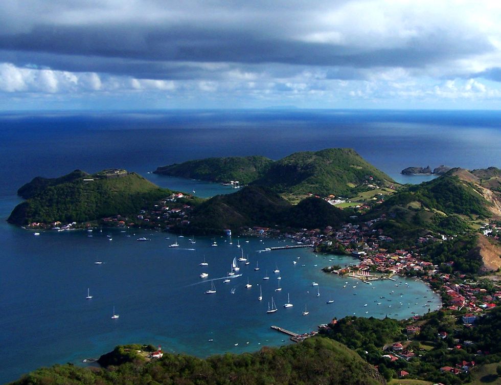
[{"label": "green wooded hill in the foreground along the bottom edge", "polygon": [[[132,347],[131,349],[135,349]],[[79,368],[66,364],[38,369],[11,385],[125,385],[125,384],[384,384],[377,370],[357,353],[328,338],[309,338],[281,348],[262,348],[255,353],[226,353],[207,359],[164,353],[148,360],[139,352],[129,356],[125,349],[118,366]],[[115,352],[114,351],[114,352]],[[123,359],[123,358],[126,359]],[[111,359],[111,357],[110,357]],[[111,359],[111,361],[113,361]]]}]

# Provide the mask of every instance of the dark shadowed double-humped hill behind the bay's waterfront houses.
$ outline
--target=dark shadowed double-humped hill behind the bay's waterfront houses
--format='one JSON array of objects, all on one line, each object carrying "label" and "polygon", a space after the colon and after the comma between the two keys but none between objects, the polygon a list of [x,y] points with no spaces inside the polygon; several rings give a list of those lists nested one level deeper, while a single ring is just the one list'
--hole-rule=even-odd
[{"label": "dark shadowed double-humped hill behind the bay's waterfront houses", "polygon": [[307,198],[293,206],[270,189],[247,186],[234,194],[218,195],[193,210],[188,232],[218,233],[254,226],[317,228],[345,221],[350,211],[337,209],[323,199]]}]

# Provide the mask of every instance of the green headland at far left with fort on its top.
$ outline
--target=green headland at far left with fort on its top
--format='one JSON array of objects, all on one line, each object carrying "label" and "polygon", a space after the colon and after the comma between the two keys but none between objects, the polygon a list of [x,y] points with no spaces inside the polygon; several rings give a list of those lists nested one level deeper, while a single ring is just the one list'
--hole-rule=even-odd
[{"label": "green headland at far left with fort on its top", "polygon": [[171,194],[125,170],[105,170],[94,175],[74,171],[57,179],[34,178],[19,190],[29,199],[17,205],[8,218],[17,225],[85,222],[137,214],[145,205]]}]

